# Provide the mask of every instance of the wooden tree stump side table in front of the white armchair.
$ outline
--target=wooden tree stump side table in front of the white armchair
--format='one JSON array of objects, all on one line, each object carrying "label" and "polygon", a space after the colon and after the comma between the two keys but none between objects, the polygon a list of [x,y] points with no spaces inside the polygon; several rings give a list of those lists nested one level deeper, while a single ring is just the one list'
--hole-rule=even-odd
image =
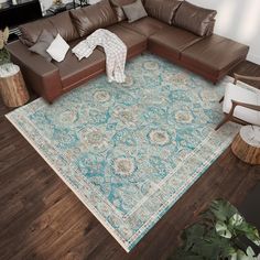
[{"label": "wooden tree stump side table in front of the white armchair", "polygon": [[232,141],[231,150],[241,161],[260,164],[260,127],[242,127]]}]

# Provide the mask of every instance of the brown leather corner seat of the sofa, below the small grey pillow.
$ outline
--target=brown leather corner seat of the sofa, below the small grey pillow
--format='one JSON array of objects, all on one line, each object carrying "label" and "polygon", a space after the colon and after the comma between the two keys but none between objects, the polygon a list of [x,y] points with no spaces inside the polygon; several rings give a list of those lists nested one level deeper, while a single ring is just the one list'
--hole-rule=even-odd
[{"label": "brown leather corner seat of the sofa, below the small grey pillow", "polygon": [[142,18],[132,23],[122,21],[119,24],[123,28],[138,32],[144,36],[150,36],[154,34],[155,32],[160,31],[161,29],[163,29],[164,26],[167,26],[167,24],[160,22],[159,20],[150,18],[150,17]]}]

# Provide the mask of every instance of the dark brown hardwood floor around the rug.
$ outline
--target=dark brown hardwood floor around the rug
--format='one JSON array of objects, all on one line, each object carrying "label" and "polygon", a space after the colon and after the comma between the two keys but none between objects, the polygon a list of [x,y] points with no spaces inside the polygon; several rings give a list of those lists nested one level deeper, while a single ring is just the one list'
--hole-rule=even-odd
[{"label": "dark brown hardwood floor around the rug", "polygon": [[[235,71],[260,75],[249,62]],[[127,253],[4,118],[8,111],[0,101],[0,259],[166,259],[181,230],[212,199],[239,206],[260,181],[260,166],[245,164],[228,148]]]}]

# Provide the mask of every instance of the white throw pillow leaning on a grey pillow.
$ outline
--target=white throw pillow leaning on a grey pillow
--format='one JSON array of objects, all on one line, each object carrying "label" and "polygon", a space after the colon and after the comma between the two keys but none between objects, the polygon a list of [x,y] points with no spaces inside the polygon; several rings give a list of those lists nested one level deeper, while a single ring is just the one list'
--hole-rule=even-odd
[{"label": "white throw pillow leaning on a grey pillow", "polygon": [[52,56],[56,62],[62,62],[65,58],[65,55],[69,48],[69,45],[65,42],[65,40],[57,34],[57,36],[53,40],[46,52]]}]

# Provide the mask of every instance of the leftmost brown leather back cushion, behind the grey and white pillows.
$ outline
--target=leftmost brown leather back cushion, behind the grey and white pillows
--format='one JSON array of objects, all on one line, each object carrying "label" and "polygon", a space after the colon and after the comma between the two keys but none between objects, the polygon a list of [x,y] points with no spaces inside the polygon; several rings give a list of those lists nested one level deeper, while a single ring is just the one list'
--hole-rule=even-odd
[{"label": "leftmost brown leather back cushion, behind the grey and white pillows", "polygon": [[50,32],[54,37],[59,33],[65,41],[73,41],[78,37],[78,33],[72,23],[68,11],[22,24],[19,29],[21,31],[20,40],[28,46],[32,46],[36,43],[43,30]]}]

